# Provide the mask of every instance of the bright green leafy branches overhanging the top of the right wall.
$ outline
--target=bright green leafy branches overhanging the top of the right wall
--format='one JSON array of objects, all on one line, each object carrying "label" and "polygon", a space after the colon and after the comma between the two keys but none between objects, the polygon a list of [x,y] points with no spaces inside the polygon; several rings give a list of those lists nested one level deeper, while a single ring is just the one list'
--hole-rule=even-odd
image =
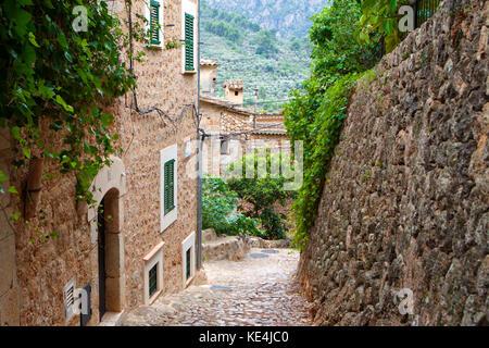
[{"label": "bright green leafy branches overhanging the top of the right wall", "polygon": [[362,17],[358,22],[359,41],[375,42],[380,34],[385,38],[386,52],[390,53],[405,35],[399,32],[399,20],[402,16],[398,11],[401,5],[408,3],[408,0],[363,0]]}]

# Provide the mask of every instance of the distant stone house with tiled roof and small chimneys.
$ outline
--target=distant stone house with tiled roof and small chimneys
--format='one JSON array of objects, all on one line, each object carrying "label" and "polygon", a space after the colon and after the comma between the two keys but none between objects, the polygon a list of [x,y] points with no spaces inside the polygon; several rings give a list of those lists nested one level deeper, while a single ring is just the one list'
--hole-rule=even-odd
[{"label": "distant stone house with tiled roof and small chimneys", "polygon": [[[205,78],[215,78],[218,64],[202,60],[201,66],[208,71],[201,75],[201,85],[210,86],[212,82]],[[243,108],[242,80],[226,80],[223,88],[224,99],[215,97],[215,90],[201,90],[201,128],[209,135],[203,142],[204,173],[222,175],[224,166],[254,148],[289,148],[283,114],[261,114]]]}]

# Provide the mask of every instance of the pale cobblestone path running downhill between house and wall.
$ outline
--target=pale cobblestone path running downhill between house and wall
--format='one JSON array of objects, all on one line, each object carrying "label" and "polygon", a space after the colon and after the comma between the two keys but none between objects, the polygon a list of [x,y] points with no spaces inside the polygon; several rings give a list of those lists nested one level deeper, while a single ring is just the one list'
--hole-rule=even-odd
[{"label": "pale cobblestone path running downhill between house and wall", "polygon": [[296,250],[251,249],[243,261],[204,262],[206,285],[141,306],[122,325],[310,325],[298,261]]}]

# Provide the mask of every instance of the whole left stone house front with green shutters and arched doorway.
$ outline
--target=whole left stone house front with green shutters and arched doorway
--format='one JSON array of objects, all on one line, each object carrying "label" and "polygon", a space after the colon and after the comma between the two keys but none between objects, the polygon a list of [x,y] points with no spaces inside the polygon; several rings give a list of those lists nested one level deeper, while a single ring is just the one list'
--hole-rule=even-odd
[{"label": "whole left stone house front with green shutters and arched doorway", "polygon": [[[148,17],[155,3],[160,42],[149,48],[136,44],[135,50],[146,51],[146,61],[134,67],[137,97],[128,94],[108,110],[115,115],[113,130],[120,135],[121,151],[92,184],[104,212],[77,203],[74,175],[42,181],[43,213],[28,225],[24,217],[7,219],[10,212],[23,211],[22,199],[0,197],[7,212],[0,214],[0,325],[114,323],[125,311],[151,303],[161,294],[180,291],[196,275],[197,157],[191,144],[197,139],[198,66],[190,66],[185,47],[165,49],[164,42],[188,40],[185,25],[190,18],[198,62],[198,0],[136,0],[133,21],[136,14]],[[117,15],[127,15],[123,5],[114,9]],[[138,112],[136,107],[139,111],[156,107],[168,117]],[[47,146],[61,145],[49,129],[42,135]],[[3,185],[22,191],[29,170],[10,166],[13,146],[2,133],[0,166],[11,179]],[[46,159],[43,173],[53,170]],[[39,237],[50,232],[58,238]],[[91,315],[75,310],[77,296],[85,294]]]}]

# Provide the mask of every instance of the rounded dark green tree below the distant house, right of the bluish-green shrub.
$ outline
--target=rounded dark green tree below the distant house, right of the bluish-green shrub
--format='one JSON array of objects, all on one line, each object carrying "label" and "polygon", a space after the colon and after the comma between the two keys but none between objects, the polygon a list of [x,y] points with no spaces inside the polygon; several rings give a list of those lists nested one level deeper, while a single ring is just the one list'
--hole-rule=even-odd
[{"label": "rounded dark green tree below the distant house, right of the bluish-green shrub", "polygon": [[[236,191],[241,201],[244,202],[244,204],[240,204],[239,210],[244,215],[258,219],[261,222],[267,239],[286,238],[288,226],[285,220],[287,216],[276,213],[274,206],[278,202],[284,207],[287,199],[296,197],[296,192],[284,189],[286,179],[281,173],[277,173],[278,177],[271,174],[272,161],[280,164],[280,154],[271,154],[269,151],[266,151],[265,157],[247,154],[240,161],[243,175],[228,179],[229,188]],[[253,178],[247,178],[247,161],[254,165]],[[235,165],[231,164],[229,169],[233,171]],[[259,175],[259,167],[263,169],[263,175]]]}]

